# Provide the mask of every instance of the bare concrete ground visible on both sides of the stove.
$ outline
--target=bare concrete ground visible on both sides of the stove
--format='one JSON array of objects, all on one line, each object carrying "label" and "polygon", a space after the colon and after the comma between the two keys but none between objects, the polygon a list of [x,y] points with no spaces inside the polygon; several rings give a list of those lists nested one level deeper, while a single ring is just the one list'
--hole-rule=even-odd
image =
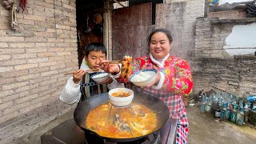
[{"label": "bare concrete ground visible on both sides of the stove", "polygon": [[[219,122],[206,114],[200,113],[198,106],[187,106],[186,111],[190,123],[189,144],[253,144],[256,142],[255,127]],[[62,115],[45,126],[39,127],[33,133],[23,136],[18,139],[17,143],[40,144],[42,134],[70,118],[73,118],[73,111]]]}]

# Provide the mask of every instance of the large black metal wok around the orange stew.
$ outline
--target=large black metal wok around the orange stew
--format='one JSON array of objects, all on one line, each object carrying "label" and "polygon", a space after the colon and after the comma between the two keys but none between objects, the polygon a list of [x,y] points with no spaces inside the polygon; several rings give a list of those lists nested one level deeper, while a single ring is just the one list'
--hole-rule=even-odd
[{"label": "large black metal wok around the orange stew", "polygon": [[[78,106],[74,110],[74,121],[77,123],[77,125],[80,128],[82,128],[82,130],[85,130],[85,132],[96,134],[94,131],[88,130],[86,128],[86,125],[85,125],[86,116],[87,114],[89,114],[90,110],[106,102],[108,102],[108,93],[98,94],[98,95],[95,95],[94,97],[90,97],[82,102],[79,102]],[[142,94],[138,92],[135,93],[134,91],[133,102],[142,103],[143,105],[148,106],[151,110],[154,110],[158,114],[158,126],[154,129],[154,131],[152,131],[152,133],[161,129],[162,126],[164,126],[165,123],[167,122],[170,112],[166,104],[162,102],[159,98],[155,98],[148,94]],[[140,138],[144,138],[147,135],[149,134],[143,135],[141,137],[136,137],[136,138],[106,138],[100,135],[98,135],[98,137],[106,139],[107,141],[110,141],[110,142],[131,142],[131,141],[138,140]]]}]

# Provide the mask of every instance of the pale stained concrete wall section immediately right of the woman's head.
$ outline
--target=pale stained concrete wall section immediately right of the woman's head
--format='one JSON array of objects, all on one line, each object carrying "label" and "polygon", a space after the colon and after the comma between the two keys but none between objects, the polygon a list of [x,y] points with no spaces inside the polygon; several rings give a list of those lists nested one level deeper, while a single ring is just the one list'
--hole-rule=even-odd
[{"label": "pale stained concrete wall section immediately right of the woman's head", "polygon": [[171,54],[184,59],[194,57],[196,18],[204,15],[204,0],[166,0],[156,7],[156,28],[166,28],[173,35]]}]

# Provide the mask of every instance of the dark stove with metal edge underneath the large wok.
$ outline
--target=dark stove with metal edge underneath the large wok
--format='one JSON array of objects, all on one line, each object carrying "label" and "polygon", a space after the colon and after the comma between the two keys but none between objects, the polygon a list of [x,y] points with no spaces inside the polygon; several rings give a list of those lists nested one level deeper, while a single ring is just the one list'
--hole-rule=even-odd
[{"label": "dark stove with metal edge underneath the large wok", "polygon": [[86,134],[74,119],[62,122],[46,134],[41,135],[42,144],[165,144],[173,143],[177,119],[170,118],[159,131],[132,142],[109,142],[96,135]]}]

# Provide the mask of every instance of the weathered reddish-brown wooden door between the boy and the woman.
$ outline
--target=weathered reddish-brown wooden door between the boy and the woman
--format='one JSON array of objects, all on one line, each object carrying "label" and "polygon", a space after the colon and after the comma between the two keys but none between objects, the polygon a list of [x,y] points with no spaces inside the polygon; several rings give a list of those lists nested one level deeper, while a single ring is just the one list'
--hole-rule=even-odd
[{"label": "weathered reddish-brown wooden door between the boy and the woman", "polygon": [[113,11],[112,58],[125,54],[133,58],[148,54],[147,37],[151,32],[151,2]]}]

